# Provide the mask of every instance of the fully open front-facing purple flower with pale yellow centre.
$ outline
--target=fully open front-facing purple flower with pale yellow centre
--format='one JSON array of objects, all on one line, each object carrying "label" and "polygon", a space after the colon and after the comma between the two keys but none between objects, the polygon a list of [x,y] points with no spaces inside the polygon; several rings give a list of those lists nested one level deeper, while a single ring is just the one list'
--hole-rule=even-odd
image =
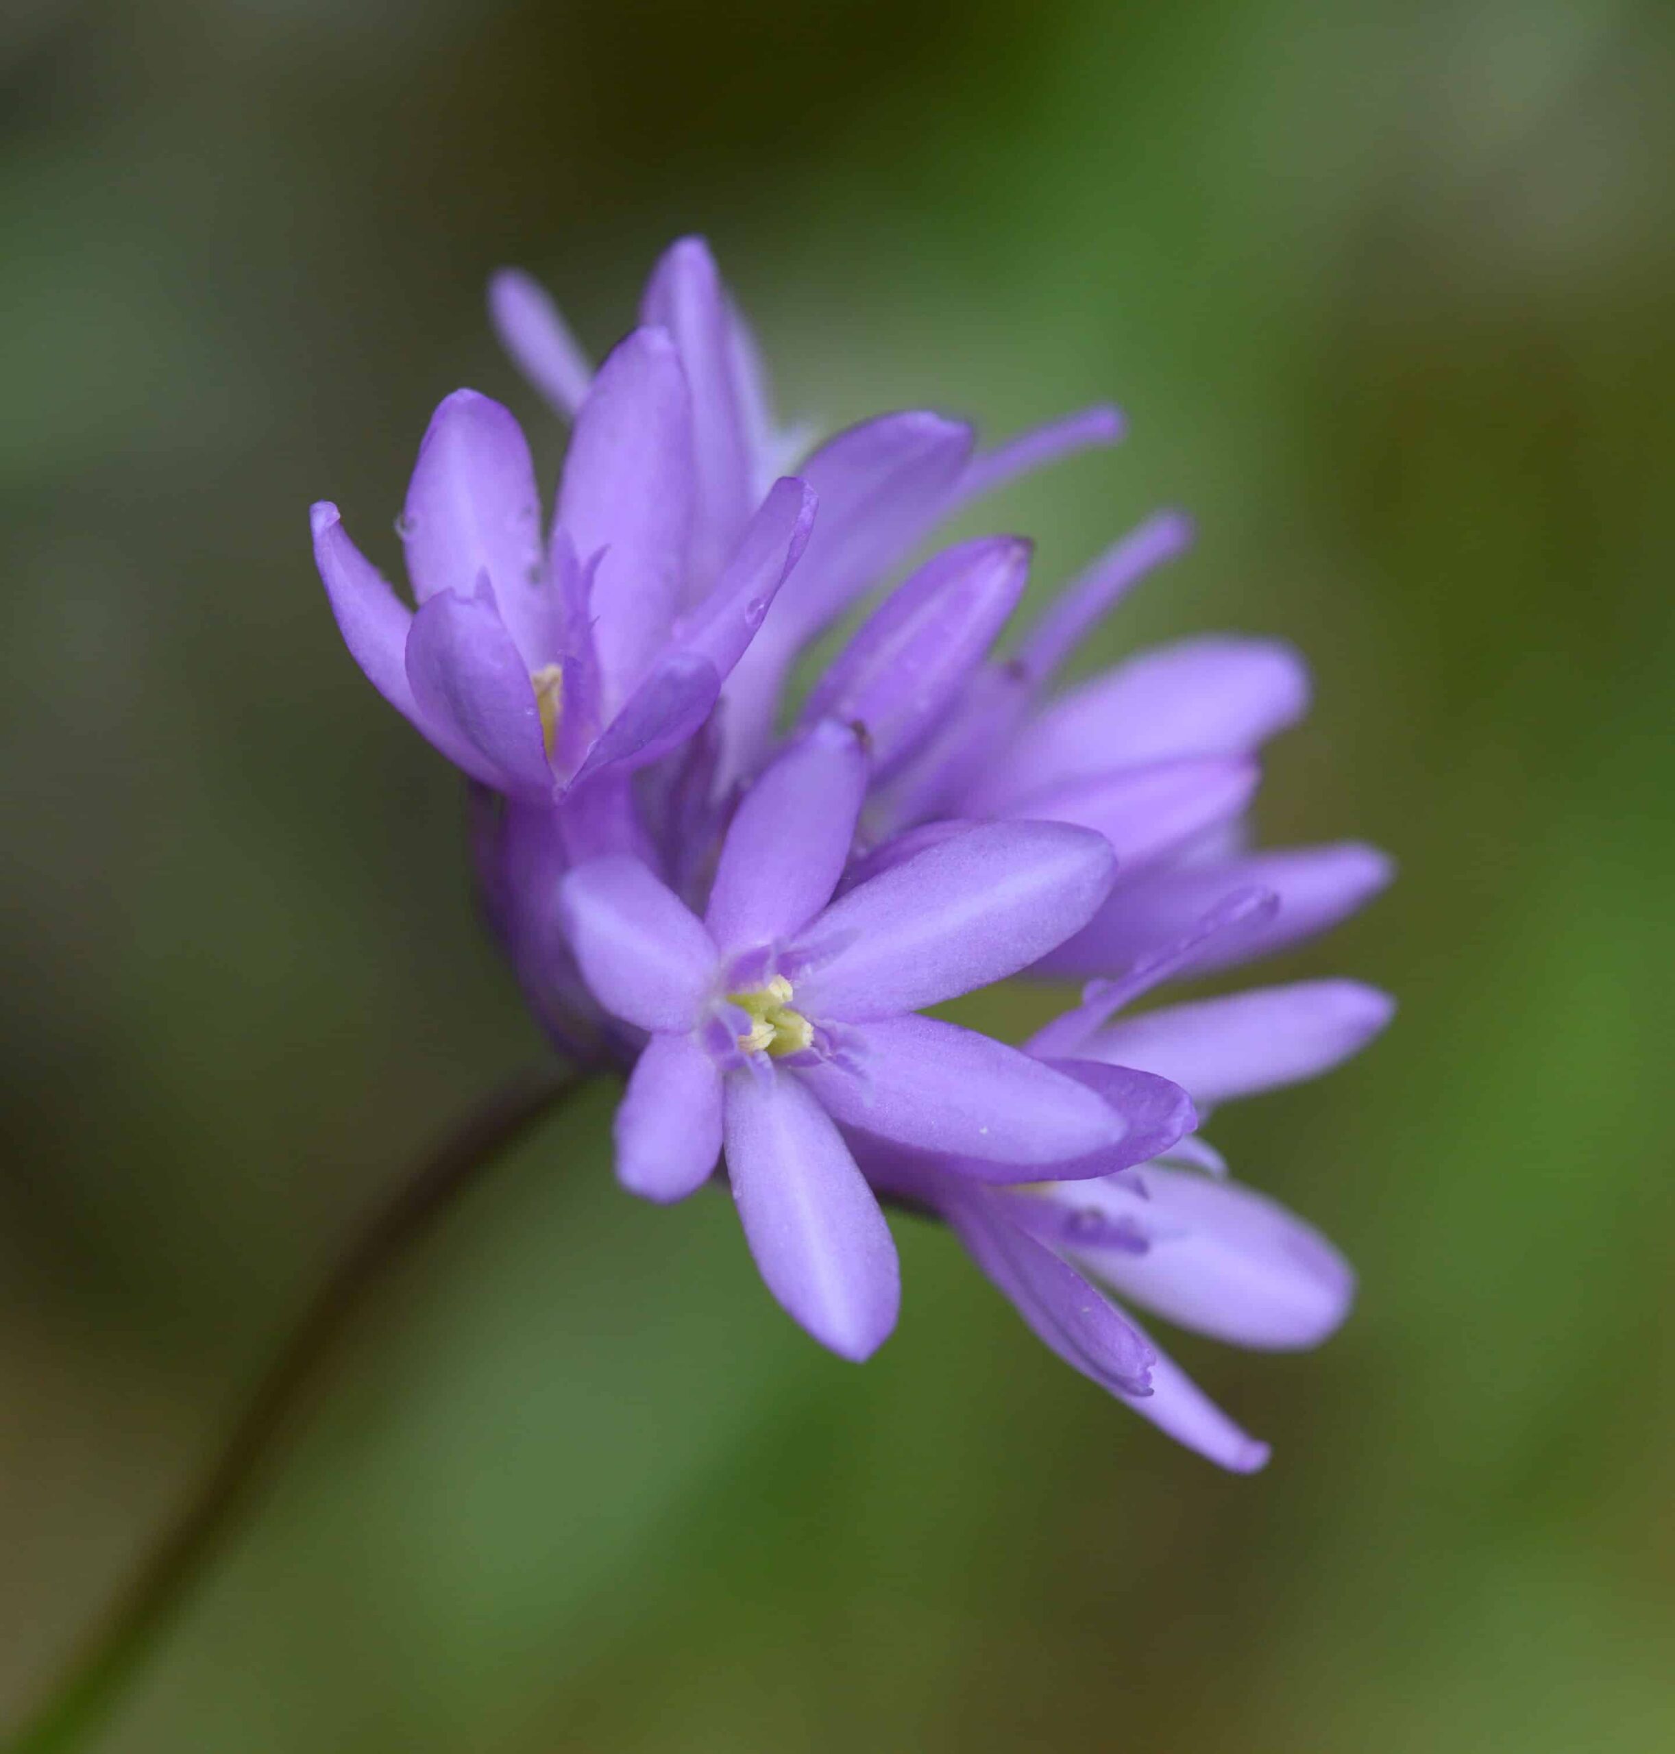
[{"label": "fully open front-facing purple flower with pale yellow centre", "polygon": [[856,1359],[895,1324],[896,1256],[838,1123],[1009,1182],[1098,1173],[1079,1165],[1103,1166],[1137,1133],[1149,1156],[1191,1126],[1163,1080],[1145,1094],[1166,1093],[1172,1131],[1098,1080],[914,1016],[1079,930],[1110,886],[1105,842],[982,824],[831,902],[865,786],[854,733],[816,724],[747,793],[702,921],[635,859],[581,865],[561,886],[589,988],[649,1037],[617,1114],[621,1180],[681,1200],[724,1147],[768,1287]]}]

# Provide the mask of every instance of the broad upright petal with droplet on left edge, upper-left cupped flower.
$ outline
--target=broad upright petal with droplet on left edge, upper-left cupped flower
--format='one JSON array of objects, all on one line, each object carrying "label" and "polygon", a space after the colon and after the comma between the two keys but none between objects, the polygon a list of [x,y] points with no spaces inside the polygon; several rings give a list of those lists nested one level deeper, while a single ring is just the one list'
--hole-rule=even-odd
[{"label": "broad upright petal with droplet on left edge, upper-left cupped flower", "polygon": [[470,593],[482,574],[524,670],[549,663],[552,591],[545,582],[540,495],[523,428],[475,389],[456,389],[431,416],[402,512],[407,574],[419,603]]}]

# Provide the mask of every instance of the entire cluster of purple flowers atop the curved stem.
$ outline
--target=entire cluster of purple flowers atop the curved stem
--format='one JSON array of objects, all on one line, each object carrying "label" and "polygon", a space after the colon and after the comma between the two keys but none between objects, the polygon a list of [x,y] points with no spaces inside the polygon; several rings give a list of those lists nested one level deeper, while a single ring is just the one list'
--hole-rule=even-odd
[{"label": "entire cluster of purple flowers atop the curved stem", "polygon": [[[1256,751],[1307,707],[1298,658],[1196,638],[1059,684],[1187,544],[1173,514],[1005,656],[1028,542],[910,565],[989,489],[1112,442],[1112,409],[987,451],[923,410],[810,446],[775,424],[695,239],[596,372],[528,277],[498,275],[491,314],[572,423],[551,519],[517,421],[461,389],[398,523],[416,607],[333,505],[314,549],[367,677],[472,782],[484,905],[531,1007],[567,1052],[628,1070],[623,1186],[681,1200],[724,1161],[770,1291],[854,1359],[896,1321],[880,1201],[931,1214],[1077,1370],[1259,1466],[1114,1298],[1249,1347],[1338,1324],[1344,1259],[1226,1180],[1198,1126],[1344,1059],[1389,1002],[1314,980],[1117,1012],[1387,881],[1363,845],[1247,851]],[[798,658],[861,609],[793,700]],[[1023,1047],[924,1016],[1019,973],[1089,984]]]}]

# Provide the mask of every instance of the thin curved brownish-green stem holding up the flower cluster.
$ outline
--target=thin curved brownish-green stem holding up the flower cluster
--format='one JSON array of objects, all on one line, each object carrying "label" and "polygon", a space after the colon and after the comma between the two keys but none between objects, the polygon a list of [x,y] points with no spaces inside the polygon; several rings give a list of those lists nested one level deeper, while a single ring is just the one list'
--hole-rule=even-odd
[{"label": "thin curved brownish-green stem holding up the flower cluster", "polygon": [[5,1754],[56,1754],[98,1728],[125,1682],[237,1526],[298,1401],[330,1363],[368,1293],[454,1200],[589,1072],[524,1073],[491,1091],[349,1238],[235,1421],[219,1454],[135,1577]]}]

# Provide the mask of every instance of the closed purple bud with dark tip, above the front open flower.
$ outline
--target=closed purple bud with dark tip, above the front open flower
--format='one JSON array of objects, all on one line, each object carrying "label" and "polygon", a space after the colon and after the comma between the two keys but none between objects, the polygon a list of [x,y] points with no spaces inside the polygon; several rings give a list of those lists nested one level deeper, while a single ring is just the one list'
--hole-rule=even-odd
[{"label": "closed purple bud with dark tip, above the front open flower", "polygon": [[873,777],[887,777],[972,682],[1028,577],[1030,544],[1016,537],[944,549],[861,623],[803,721],[863,724]]}]

